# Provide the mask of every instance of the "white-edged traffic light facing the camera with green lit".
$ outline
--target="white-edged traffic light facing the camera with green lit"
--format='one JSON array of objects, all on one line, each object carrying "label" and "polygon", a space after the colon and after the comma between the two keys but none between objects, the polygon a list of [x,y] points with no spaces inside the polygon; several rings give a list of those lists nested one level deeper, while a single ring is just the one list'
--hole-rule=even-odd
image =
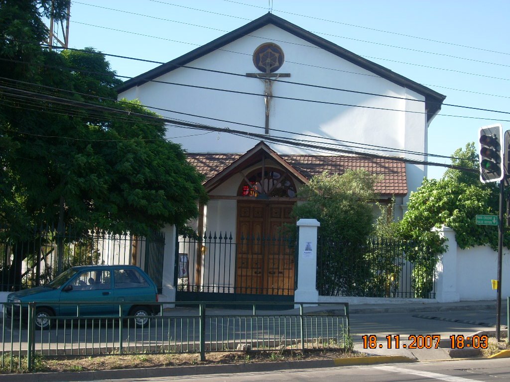
[{"label": "white-edged traffic light facing the camera with green lit", "polygon": [[500,124],[480,127],[480,180],[483,183],[503,179],[503,133]]}]

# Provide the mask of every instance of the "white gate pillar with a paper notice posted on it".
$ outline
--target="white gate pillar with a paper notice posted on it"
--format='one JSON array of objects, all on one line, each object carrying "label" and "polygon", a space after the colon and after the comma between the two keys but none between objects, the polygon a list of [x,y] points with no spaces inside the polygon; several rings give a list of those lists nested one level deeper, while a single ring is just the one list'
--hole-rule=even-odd
[{"label": "white gate pillar with a paper notice posted on it", "polygon": [[297,303],[318,303],[319,292],[316,288],[317,279],[317,229],[320,223],[316,219],[300,219],[297,289],[294,301]]}]

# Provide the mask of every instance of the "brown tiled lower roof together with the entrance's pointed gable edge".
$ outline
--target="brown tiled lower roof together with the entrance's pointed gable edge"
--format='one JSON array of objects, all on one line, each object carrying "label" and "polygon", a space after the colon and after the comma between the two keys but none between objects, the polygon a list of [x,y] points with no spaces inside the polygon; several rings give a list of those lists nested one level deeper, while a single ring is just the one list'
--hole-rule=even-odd
[{"label": "brown tiled lower roof together with the entrance's pointed gable edge", "polygon": [[[262,151],[261,151],[262,150]],[[278,160],[303,183],[324,171],[343,174],[345,170],[365,169],[371,174],[382,175],[382,181],[375,185],[380,196],[407,195],[405,163],[386,158],[364,158],[347,155],[278,155],[261,142],[246,154],[198,154],[188,153],[188,161],[206,177],[204,185],[209,191],[235,172],[260,161],[265,152]]]}]

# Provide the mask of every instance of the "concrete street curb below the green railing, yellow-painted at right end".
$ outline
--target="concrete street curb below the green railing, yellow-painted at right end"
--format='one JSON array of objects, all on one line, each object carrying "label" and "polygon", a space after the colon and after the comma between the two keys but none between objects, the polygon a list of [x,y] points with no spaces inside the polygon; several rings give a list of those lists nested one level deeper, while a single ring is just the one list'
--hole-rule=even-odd
[{"label": "concrete street curb below the green railing, yellow-painted at right end", "polygon": [[158,378],[186,375],[208,375],[208,374],[233,374],[263,371],[300,370],[316,369],[338,366],[375,365],[384,363],[409,363],[417,362],[409,357],[403,356],[375,356],[375,357],[354,357],[335,358],[328,360],[314,361],[286,361],[266,362],[252,364],[227,364],[227,365],[199,365],[199,366],[174,366],[155,367],[141,369],[122,370],[100,370],[100,371],[77,371],[77,372],[55,372],[55,373],[25,373],[25,374],[2,374],[2,382],[71,382],[90,381],[102,379],[124,379],[124,378]]}]

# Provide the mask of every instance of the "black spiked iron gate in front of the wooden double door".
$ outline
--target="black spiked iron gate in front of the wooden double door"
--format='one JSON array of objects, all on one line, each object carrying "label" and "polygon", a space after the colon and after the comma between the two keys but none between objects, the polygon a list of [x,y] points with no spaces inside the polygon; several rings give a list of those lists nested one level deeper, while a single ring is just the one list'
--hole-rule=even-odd
[{"label": "black spiked iron gate in front of the wooden double door", "polygon": [[283,236],[181,236],[175,285],[180,292],[294,295],[295,259],[295,239]]}]

